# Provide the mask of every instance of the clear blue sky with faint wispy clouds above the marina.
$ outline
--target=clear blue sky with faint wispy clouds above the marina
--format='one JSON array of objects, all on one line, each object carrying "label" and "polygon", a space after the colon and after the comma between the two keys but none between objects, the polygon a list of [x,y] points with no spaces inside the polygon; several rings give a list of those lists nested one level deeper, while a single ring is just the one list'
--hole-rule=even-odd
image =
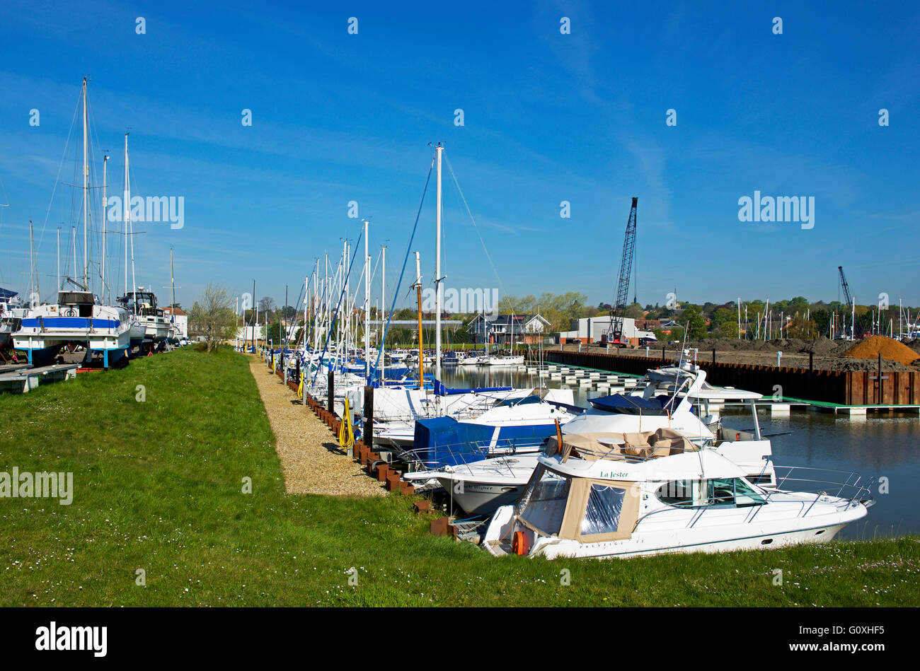
[{"label": "clear blue sky with faint wispy clouds above the marina", "polygon": [[[29,286],[29,219],[45,296],[57,226],[63,245],[82,226],[63,184],[79,179],[75,144],[62,154],[87,74],[109,185],[130,127],[132,195],[185,199],[182,229],[135,238],[137,281],[164,302],[170,246],[183,305],[209,281],[236,295],[253,279],[279,302],[290,285],[293,302],[316,257],[356,238],[350,200],[372,216],[374,258],[388,246],[392,296],[440,141],[499,274],[445,169],[448,287],[611,301],[638,196],[643,304],[674,288],[835,300],[839,265],[859,302],[920,304],[917,6],[5,0],[0,53],[0,284],[15,290]],[[754,190],[813,196],[814,228],[740,222]],[[426,280],[431,196],[413,245]]]}]

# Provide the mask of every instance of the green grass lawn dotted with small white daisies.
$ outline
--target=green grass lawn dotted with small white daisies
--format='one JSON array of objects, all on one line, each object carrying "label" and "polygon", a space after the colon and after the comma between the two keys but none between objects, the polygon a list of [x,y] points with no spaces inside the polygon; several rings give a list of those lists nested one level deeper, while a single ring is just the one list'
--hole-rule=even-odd
[{"label": "green grass lawn dotted with small white daisies", "polygon": [[[499,560],[431,537],[428,520],[397,495],[286,495],[247,358],[227,349],[186,347],[5,394],[0,414],[0,471],[73,472],[75,489],[70,506],[0,498],[2,606],[920,601],[916,538],[607,562]],[[145,586],[136,585],[138,569]],[[569,586],[560,585],[563,569]]]}]

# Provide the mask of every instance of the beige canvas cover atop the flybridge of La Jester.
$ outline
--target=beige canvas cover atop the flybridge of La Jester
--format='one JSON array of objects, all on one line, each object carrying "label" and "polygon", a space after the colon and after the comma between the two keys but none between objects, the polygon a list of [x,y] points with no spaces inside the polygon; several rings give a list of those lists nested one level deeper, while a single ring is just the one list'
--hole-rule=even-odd
[{"label": "beige canvas cover atop the flybridge of La Jester", "polygon": [[561,449],[558,438],[551,436],[546,444],[546,455],[552,457],[558,453],[563,462],[568,461],[569,457],[598,461],[622,460],[624,456],[667,457],[698,449],[677,431],[660,428],[641,433],[567,433],[562,435]]}]

